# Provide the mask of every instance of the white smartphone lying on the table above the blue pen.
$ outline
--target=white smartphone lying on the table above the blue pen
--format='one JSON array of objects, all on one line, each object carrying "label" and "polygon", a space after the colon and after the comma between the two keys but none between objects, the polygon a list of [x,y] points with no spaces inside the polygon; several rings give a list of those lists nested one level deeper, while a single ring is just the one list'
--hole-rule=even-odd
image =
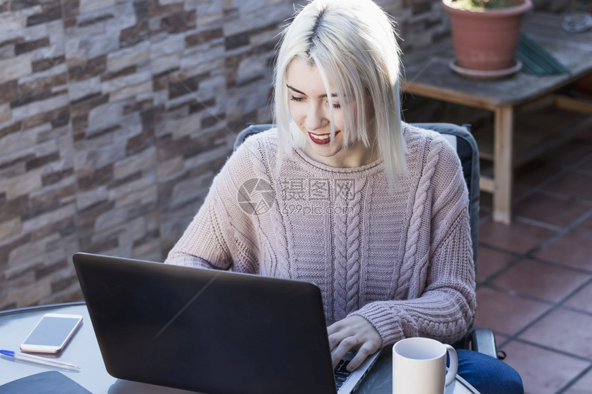
[{"label": "white smartphone lying on the table above the blue pen", "polygon": [[72,338],[81,322],[80,315],[45,314],[21,344],[21,351],[58,353]]}]

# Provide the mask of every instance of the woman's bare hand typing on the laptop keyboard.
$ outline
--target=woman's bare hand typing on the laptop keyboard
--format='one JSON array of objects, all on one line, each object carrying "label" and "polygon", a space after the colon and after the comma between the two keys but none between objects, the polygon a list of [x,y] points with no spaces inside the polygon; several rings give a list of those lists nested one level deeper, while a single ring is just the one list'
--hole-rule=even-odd
[{"label": "woman's bare hand typing on the laptop keyboard", "polygon": [[348,371],[355,370],[368,355],[380,349],[382,338],[373,325],[361,316],[349,316],[327,327],[333,368],[350,349],[358,353],[350,361]]}]

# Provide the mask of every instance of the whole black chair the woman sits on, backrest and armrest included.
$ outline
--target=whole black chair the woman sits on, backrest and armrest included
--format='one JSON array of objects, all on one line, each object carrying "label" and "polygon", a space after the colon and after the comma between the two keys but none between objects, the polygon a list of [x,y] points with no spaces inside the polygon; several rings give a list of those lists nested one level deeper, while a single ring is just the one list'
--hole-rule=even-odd
[{"label": "whole black chair the woman sits on, backrest and armrest included", "polygon": [[[467,124],[458,126],[458,124],[452,123],[413,123],[413,125],[441,133],[444,138],[454,146],[456,153],[458,153],[458,157],[460,158],[463,167],[463,175],[465,176],[467,189],[469,190],[469,221],[471,224],[471,239],[473,241],[473,257],[476,272],[480,197],[479,151],[477,149],[477,142],[470,133],[470,126]],[[273,124],[249,124],[237,134],[234,149],[236,150],[246,138],[249,138],[250,135],[266,131],[272,127],[274,127]],[[503,358],[504,356],[503,352],[498,354],[496,339],[494,332],[491,331],[491,329],[471,328],[467,331],[465,338],[454,344],[454,347],[473,349],[495,358]]]}]

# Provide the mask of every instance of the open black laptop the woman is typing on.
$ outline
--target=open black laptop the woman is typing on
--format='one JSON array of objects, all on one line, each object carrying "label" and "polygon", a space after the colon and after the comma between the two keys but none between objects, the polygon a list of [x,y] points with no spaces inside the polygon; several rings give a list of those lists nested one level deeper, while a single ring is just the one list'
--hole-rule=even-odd
[{"label": "open black laptop the woman is typing on", "polygon": [[208,394],[344,394],[379,354],[351,374],[333,370],[313,283],[98,254],[73,260],[105,367],[120,379]]}]

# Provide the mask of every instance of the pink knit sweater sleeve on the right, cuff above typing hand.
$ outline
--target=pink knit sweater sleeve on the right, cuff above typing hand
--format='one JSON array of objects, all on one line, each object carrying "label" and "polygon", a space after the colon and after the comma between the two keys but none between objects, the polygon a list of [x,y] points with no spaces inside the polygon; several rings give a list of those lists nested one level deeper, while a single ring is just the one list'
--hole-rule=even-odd
[{"label": "pink knit sweater sleeve on the right, cuff above typing hand", "polygon": [[414,270],[408,294],[368,303],[350,314],[366,318],[380,333],[383,346],[413,336],[454,343],[464,336],[474,316],[468,194],[456,152],[445,142],[430,176],[429,194],[419,233],[429,234],[430,248],[414,253],[408,268]]}]

